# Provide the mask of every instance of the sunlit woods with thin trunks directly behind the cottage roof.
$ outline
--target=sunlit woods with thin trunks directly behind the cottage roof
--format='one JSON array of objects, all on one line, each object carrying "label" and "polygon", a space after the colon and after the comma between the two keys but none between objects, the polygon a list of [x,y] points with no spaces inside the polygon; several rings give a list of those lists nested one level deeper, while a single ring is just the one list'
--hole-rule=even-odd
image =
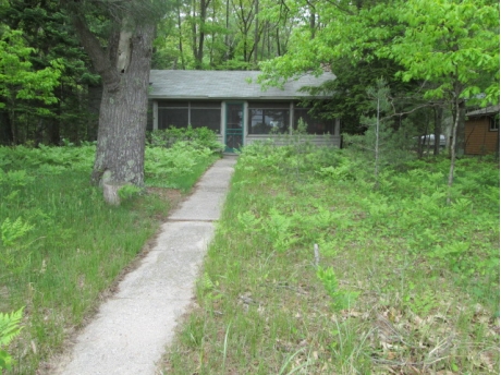
[{"label": "sunlit woods with thin trunks directly behind the cottage roof", "polygon": [[154,66],[256,69],[259,60],[286,51],[292,29],[298,24],[289,9],[291,4],[270,0],[178,0],[171,16],[159,24]]}]

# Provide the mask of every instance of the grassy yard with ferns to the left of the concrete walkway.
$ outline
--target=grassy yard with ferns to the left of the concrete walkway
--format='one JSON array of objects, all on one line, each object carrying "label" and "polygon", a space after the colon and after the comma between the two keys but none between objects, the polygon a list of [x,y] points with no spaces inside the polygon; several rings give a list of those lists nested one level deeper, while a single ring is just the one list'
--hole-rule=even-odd
[{"label": "grassy yard with ferns to the left of the concrete walkway", "polygon": [[[188,191],[219,157],[200,144],[182,148],[181,166],[176,144],[149,145],[146,189],[125,188],[122,204],[109,206],[89,183],[94,145],[0,147],[0,362],[12,367],[7,374],[34,374],[61,350],[147,251],[172,197],[181,198],[161,186]],[[21,309],[21,322],[10,319]],[[17,337],[13,323],[21,323]]]}]

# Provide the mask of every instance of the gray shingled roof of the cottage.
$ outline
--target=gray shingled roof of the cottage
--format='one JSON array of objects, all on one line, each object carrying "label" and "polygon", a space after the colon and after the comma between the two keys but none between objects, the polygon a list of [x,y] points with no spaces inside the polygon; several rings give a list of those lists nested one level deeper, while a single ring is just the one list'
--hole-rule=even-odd
[{"label": "gray shingled roof of the cottage", "polygon": [[286,82],[283,89],[270,87],[261,90],[260,85],[256,83],[259,74],[261,72],[258,71],[152,70],[149,76],[149,98],[294,99],[310,97],[306,93],[300,93],[301,87],[319,86],[335,78],[332,73],[323,73],[319,77],[304,75],[296,81]]}]

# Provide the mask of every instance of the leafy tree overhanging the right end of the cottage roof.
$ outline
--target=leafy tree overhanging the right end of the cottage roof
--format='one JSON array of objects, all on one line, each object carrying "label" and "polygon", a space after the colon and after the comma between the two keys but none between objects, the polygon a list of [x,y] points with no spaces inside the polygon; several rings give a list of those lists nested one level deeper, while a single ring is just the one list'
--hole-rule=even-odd
[{"label": "leafy tree overhanging the right end of the cottage roof", "polygon": [[[379,1],[381,2],[381,1]],[[366,95],[369,87],[383,78],[391,87],[395,110],[405,111],[406,101],[416,89],[417,82],[401,83],[394,77],[400,65],[391,59],[378,58],[376,48],[402,32],[399,25],[387,25],[380,19],[374,20],[374,9],[380,11],[377,2],[329,2],[305,1],[286,2],[288,9],[300,17],[301,24],[293,29],[289,52],[270,61],[260,63],[264,74],[260,82],[267,85],[281,85],[285,80],[305,72],[321,73],[331,70],[337,78],[321,87],[310,87],[310,94],[331,94],[328,106],[332,116],[343,119],[343,129],[351,133],[363,131],[361,113],[374,110]],[[315,21],[308,20],[315,12]],[[268,13],[272,14],[272,13]],[[387,27],[387,32],[371,31]]]}]

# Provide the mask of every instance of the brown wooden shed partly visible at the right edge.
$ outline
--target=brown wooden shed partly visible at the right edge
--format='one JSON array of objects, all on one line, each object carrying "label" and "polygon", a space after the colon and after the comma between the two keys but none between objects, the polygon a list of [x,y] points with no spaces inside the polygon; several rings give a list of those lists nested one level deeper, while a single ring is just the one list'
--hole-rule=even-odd
[{"label": "brown wooden shed partly visible at the right edge", "polygon": [[466,113],[465,154],[499,154],[499,105]]}]

